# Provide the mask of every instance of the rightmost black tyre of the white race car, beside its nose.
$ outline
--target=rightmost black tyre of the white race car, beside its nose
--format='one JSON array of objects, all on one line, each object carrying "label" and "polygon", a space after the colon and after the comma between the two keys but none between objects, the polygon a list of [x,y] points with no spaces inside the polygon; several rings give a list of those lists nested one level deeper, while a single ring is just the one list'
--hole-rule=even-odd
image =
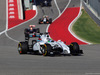
[{"label": "rightmost black tyre of the white race car, beside its nose", "polygon": [[78,43],[73,42],[70,44],[69,47],[70,47],[70,52],[72,55],[79,55],[80,48],[79,48]]}]

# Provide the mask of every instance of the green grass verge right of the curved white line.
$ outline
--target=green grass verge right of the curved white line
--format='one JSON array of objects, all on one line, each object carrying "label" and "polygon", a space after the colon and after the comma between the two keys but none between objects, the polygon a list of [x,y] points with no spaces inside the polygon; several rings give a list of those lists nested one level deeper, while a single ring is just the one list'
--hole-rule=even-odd
[{"label": "green grass verge right of the curved white line", "polygon": [[73,32],[83,40],[90,43],[100,44],[100,27],[82,9],[82,15],[72,27]]}]

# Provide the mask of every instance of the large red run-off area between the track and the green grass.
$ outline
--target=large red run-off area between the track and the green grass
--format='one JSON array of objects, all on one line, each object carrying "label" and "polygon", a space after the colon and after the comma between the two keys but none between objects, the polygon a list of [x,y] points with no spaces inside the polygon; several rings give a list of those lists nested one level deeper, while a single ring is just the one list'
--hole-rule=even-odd
[{"label": "large red run-off area between the track and the green grass", "polygon": [[59,17],[49,26],[48,32],[50,32],[51,38],[56,41],[65,41],[67,45],[69,45],[71,42],[87,44],[75,38],[68,30],[70,23],[78,16],[79,11],[80,7],[67,8],[61,17]]}]

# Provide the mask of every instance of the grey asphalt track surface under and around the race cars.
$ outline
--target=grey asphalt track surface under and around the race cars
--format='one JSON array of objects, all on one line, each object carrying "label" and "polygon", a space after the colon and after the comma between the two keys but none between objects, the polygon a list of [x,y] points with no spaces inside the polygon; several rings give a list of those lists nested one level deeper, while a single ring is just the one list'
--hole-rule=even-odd
[{"label": "grey asphalt track surface under and around the race cars", "polygon": [[[67,5],[68,0],[57,0],[61,10],[65,7],[64,4],[60,4],[63,1]],[[0,2],[0,7],[6,12],[5,0],[2,0],[2,3]],[[79,6],[79,3],[79,0],[72,0],[69,7]],[[38,19],[44,15],[44,12],[53,19],[59,15],[54,1],[50,8],[40,6],[37,8],[39,13],[35,19],[7,32],[14,41],[9,39],[6,33],[0,35],[0,75],[100,75],[100,45],[81,45],[81,49],[84,50],[82,56],[43,57],[18,54],[18,43],[15,40],[24,40],[24,29],[29,24],[35,24],[36,27],[41,28],[41,32],[45,32],[47,25],[38,25]],[[2,11],[0,15],[5,15]],[[5,22],[2,20],[6,21],[6,18],[0,17],[0,23],[4,26],[0,29],[5,29]]]}]

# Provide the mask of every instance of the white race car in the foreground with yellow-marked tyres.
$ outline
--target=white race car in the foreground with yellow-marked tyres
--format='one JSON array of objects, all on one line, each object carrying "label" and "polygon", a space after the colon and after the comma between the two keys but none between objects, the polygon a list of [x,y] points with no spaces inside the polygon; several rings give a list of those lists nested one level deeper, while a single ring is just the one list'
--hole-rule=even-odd
[{"label": "white race car in the foreground with yellow-marked tyres", "polygon": [[29,45],[26,41],[20,42],[18,44],[18,51],[20,54],[27,54],[27,52],[33,52],[42,54],[43,56],[51,56],[56,54],[83,54],[83,50],[80,50],[78,43],[73,42],[70,45],[66,45],[61,40],[52,40],[47,33],[40,35],[38,40],[32,40],[31,45]]}]

